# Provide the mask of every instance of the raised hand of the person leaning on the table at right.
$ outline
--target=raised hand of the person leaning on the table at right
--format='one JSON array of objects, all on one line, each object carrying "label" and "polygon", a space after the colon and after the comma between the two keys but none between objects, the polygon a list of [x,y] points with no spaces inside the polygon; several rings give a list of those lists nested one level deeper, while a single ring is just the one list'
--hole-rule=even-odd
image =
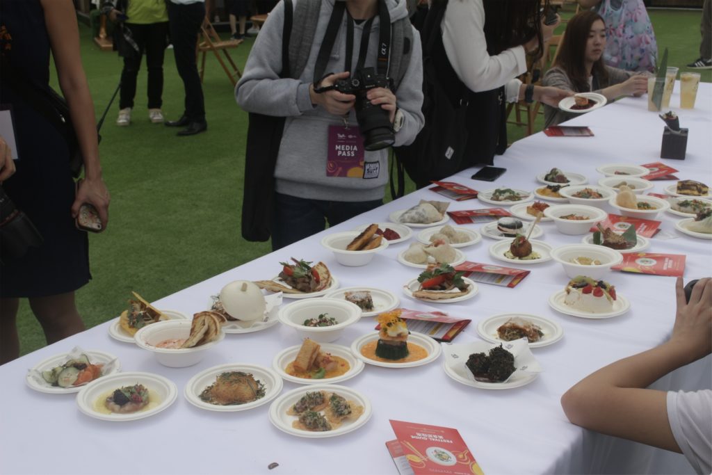
[{"label": "raised hand of the person leaning on the table at right", "polygon": [[689,303],[681,277],[675,283],[677,312],[671,343],[684,345],[693,360],[712,352],[712,278],[701,278],[692,288]]}]

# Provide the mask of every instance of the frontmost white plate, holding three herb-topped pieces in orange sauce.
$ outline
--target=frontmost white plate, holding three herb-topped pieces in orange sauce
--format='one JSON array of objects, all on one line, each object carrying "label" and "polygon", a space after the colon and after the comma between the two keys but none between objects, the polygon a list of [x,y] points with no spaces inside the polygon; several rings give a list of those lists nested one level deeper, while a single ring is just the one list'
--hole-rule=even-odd
[{"label": "frontmost white plate, holding three herb-topped pieces in orange sauce", "polygon": [[[337,429],[333,429],[326,432],[311,432],[307,430],[295,429],[292,427],[292,422],[298,419],[297,416],[290,416],[287,411],[292,407],[300,398],[306,394],[306,392],[312,391],[326,391],[335,392],[337,395],[345,397],[348,401],[356,402],[363,406],[363,414],[361,417],[355,421],[346,421],[341,424]],[[349,432],[355,431],[363,424],[368,422],[371,418],[373,409],[371,407],[371,402],[368,398],[357,390],[352,390],[350,387],[339,386],[339,385],[314,385],[311,387],[298,387],[295,390],[286,392],[281,395],[272,405],[269,407],[269,420],[274,427],[280,429],[287,434],[295,435],[297,437],[306,437],[308,439],[322,439],[324,437],[336,437],[343,434],[348,434]]]}]

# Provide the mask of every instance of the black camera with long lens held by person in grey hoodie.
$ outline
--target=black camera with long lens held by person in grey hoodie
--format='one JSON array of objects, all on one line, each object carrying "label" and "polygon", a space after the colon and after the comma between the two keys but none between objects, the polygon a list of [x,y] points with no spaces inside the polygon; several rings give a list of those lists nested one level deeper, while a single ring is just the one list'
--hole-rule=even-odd
[{"label": "black camera with long lens held by person in grey hoodie", "polygon": [[366,98],[368,90],[373,88],[393,90],[393,80],[384,74],[377,74],[374,68],[362,68],[355,71],[350,78],[334,83],[334,89],[340,93],[356,96],[354,108],[364,148],[381,150],[393,145],[396,139],[388,111],[382,109],[380,104],[373,105]]}]

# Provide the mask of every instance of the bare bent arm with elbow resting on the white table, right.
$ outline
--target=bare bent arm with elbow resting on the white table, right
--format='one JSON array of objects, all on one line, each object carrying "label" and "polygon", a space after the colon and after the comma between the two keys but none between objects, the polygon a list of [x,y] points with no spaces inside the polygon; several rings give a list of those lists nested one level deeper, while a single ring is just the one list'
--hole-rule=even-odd
[{"label": "bare bent arm with elbow resting on the white table, right", "polygon": [[710,354],[712,279],[703,278],[685,301],[676,282],[677,313],[670,340],[585,377],[561,398],[569,420],[586,429],[680,452],[667,414],[666,392],[646,389],[659,378]]}]

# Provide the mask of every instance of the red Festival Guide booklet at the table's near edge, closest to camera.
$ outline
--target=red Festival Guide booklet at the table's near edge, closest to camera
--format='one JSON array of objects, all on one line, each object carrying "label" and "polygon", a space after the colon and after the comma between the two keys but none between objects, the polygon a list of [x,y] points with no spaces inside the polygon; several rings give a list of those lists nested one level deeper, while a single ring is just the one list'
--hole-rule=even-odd
[{"label": "red Festival Guide booklet at the table's near edge, closest to camera", "polygon": [[394,420],[390,423],[401,450],[392,448],[393,442],[386,446],[390,444],[392,456],[403,454],[415,475],[484,475],[457,429]]}]

